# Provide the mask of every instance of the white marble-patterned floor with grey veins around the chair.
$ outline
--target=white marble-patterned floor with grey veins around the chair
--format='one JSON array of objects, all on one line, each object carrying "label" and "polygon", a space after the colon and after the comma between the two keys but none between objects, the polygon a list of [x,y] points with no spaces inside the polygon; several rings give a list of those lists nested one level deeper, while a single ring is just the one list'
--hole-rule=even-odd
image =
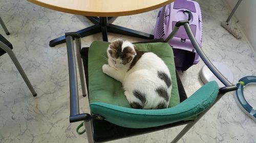
[{"label": "white marble-patterned floor with grey veins around the chair", "polygon": [[[212,61],[227,65],[236,83],[241,77],[256,75],[255,53],[245,38],[237,40],[220,22],[230,12],[221,0],[199,1],[203,16],[203,50]],[[158,10],[118,17],[114,23],[153,34]],[[75,131],[79,123],[69,123],[69,82],[65,44],[49,47],[49,41],[92,25],[85,17],[39,7],[27,1],[0,2],[0,15],[11,35],[0,33],[35,87],[33,97],[7,54],[0,57],[0,142],[87,142]],[[142,39],[109,34],[109,40]],[[100,34],[82,38],[88,46],[101,40]],[[188,95],[202,86],[199,71],[203,62],[181,74]],[[251,93],[255,88],[250,87]],[[254,91],[253,91],[254,90]],[[250,92],[248,92],[250,93]],[[255,96],[246,97],[255,107]],[[81,112],[88,101],[80,96]],[[111,142],[170,142],[181,127]],[[237,106],[233,93],[226,94],[179,142],[256,142],[256,124]]]}]

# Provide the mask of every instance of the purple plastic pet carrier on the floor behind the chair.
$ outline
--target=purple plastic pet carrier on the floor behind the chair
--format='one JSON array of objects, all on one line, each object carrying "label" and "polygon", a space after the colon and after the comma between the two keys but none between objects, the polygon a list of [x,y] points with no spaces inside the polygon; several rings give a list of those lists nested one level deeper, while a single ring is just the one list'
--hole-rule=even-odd
[{"label": "purple plastic pet carrier on the floor behind the chair", "polygon": [[[173,31],[176,22],[189,20],[191,31],[198,44],[202,45],[202,15],[197,2],[190,0],[176,0],[175,2],[162,7],[158,13],[155,39],[164,40]],[[177,70],[185,71],[199,62],[199,55],[190,42],[185,28],[181,26],[173,39],[168,42],[174,51],[175,66]]]}]

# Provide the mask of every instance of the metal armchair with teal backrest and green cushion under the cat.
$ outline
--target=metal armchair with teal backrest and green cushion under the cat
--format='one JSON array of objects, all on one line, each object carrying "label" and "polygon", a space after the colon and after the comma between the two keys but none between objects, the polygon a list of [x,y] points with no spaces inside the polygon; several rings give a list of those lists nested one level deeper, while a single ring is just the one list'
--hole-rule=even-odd
[{"label": "metal armchair with teal backrest and green cushion under the cat", "polygon": [[[185,27],[189,39],[203,62],[224,83],[225,87],[219,89],[217,82],[211,81],[189,98],[186,97],[175,70],[172,48],[166,43],[172,39],[181,25]],[[91,113],[79,113],[73,38],[76,43],[82,95],[88,95]],[[225,93],[237,90],[236,85],[232,85],[208,60],[191,32],[187,20],[177,22],[167,41],[158,39],[135,43],[136,48],[152,51],[160,56],[170,70],[173,89],[169,108],[166,109],[144,110],[129,106],[121,83],[102,72],[102,65],[108,63],[105,58],[107,57],[106,49],[110,43],[94,41],[89,48],[81,49],[80,35],[77,33],[66,33],[66,41],[70,79],[69,119],[70,123],[83,121],[89,142],[110,141],[186,124],[172,141],[172,143],[177,142]]]}]

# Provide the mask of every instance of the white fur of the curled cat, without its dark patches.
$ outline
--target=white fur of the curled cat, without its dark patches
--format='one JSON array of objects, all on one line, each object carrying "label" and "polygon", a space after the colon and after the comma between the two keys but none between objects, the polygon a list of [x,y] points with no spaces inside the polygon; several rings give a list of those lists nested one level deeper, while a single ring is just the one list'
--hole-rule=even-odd
[{"label": "white fur of the curled cat, without its dark patches", "polygon": [[[125,41],[122,47],[134,47],[132,43]],[[109,49],[108,49],[109,50]],[[164,80],[158,77],[158,71],[162,71],[168,75],[170,78],[170,73],[165,65],[165,63],[154,53],[146,52],[137,61],[134,67],[127,71],[131,65],[114,66],[112,58],[109,55],[109,65],[103,65],[103,73],[115,78],[116,80],[122,82],[124,95],[127,100],[131,103],[137,102],[141,103],[138,98],[133,95],[134,90],[138,90],[146,95],[146,103],[144,104],[144,109],[155,109],[161,102],[166,102],[164,98],[160,97],[156,92],[158,87],[166,87],[167,85]],[[170,91],[172,90],[172,85],[167,89],[168,96],[170,97]],[[169,101],[168,101],[169,103]],[[168,104],[167,103],[167,104]]]}]

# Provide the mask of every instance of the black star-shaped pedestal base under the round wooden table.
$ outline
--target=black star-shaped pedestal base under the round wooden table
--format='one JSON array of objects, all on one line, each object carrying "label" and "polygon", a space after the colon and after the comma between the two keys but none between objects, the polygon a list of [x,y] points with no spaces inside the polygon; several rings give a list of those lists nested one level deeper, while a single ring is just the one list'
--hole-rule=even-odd
[{"label": "black star-shaped pedestal base under the round wooden table", "polygon": [[[80,31],[77,31],[77,33],[79,33],[81,35],[81,37],[86,37],[86,36],[101,32],[103,41],[108,41],[107,32],[111,32],[111,33],[127,35],[127,36],[132,36],[132,37],[138,37],[138,38],[143,38],[143,39],[154,39],[154,35],[111,24],[108,22],[108,20],[110,20],[111,18],[108,18],[108,17],[99,17],[99,18],[98,17],[87,17],[87,18],[89,20],[91,20],[95,25],[84,28]],[[59,38],[51,40],[49,45],[51,47],[54,47],[55,45],[65,43],[65,42],[66,42],[65,36],[61,36]]]}]

